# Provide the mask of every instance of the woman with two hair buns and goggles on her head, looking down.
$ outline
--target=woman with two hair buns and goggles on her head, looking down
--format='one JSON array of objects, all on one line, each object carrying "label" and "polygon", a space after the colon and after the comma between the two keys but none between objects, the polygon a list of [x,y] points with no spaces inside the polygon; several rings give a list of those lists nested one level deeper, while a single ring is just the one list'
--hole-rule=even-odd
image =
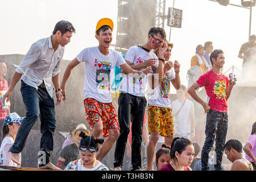
[{"label": "woman with two hair buns and goggles on her head, looking down", "polygon": [[79,146],[79,160],[70,162],[65,171],[108,171],[108,167],[96,159],[98,144],[102,144],[104,139],[95,139],[93,136],[88,136],[81,131],[82,137]]}]

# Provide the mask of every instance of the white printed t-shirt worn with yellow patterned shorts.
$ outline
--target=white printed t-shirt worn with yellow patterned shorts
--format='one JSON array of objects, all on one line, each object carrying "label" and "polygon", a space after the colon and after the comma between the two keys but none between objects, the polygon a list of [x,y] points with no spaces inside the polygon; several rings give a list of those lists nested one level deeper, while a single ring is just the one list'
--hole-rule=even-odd
[{"label": "white printed t-shirt worn with yellow patterned shorts", "polygon": [[170,101],[170,88],[171,80],[175,78],[174,71],[172,69],[168,70],[160,84],[154,89],[148,84],[148,104],[151,106],[158,107],[168,107],[171,108]]}]

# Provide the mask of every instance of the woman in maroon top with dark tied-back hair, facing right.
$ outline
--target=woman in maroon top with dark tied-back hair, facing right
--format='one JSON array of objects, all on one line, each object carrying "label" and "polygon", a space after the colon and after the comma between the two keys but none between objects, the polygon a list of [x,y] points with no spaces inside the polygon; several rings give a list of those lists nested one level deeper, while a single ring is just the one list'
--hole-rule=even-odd
[{"label": "woman in maroon top with dark tied-back hair, facing right", "polygon": [[171,162],[165,164],[159,171],[192,171],[189,167],[195,155],[194,147],[187,138],[176,137],[171,145]]}]

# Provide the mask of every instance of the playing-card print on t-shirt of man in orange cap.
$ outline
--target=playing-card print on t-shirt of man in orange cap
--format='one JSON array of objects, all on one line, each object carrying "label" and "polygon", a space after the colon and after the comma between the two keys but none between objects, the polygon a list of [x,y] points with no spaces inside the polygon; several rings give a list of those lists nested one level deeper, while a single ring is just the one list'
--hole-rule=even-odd
[{"label": "playing-card print on t-shirt of man in orange cap", "polygon": [[111,63],[97,61],[96,86],[98,89],[110,90],[109,76]]}]

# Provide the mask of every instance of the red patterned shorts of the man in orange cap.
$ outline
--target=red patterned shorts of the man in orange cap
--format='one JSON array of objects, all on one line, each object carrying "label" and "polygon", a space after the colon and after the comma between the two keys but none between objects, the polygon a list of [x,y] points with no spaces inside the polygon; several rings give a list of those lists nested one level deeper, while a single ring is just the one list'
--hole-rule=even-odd
[{"label": "red patterned shorts of the man in orange cap", "polygon": [[102,103],[98,102],[94,98],[86,98],[84,100],[85,114],[87,115],[87,121],[91,128],[99,122],[102,121],[103,137],[109,136],[109,129],[120,130],[118,124],[117,113],[112,103]]}]

